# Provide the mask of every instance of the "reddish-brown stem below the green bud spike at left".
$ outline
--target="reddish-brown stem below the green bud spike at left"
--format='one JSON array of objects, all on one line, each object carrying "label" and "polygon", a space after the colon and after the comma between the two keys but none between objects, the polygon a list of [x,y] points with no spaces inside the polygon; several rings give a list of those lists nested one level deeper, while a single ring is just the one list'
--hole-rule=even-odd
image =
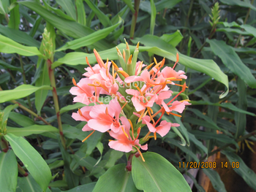
[{"label": "reddish-brown stem below the green bud spike at left", "polygon": [[59,125],[59,134],[61,136],[61,144],[63,145],[64,149],[66,149],[65,139],[64,139],[62,124],[61,124],[61,115],[59,113],[59,101],[58,101],[58,95],[57,95],[57,91],[56,91],[56,82],[55,82],[53,69],[51,69],[51,64],[53,64],[52,61],[50,61],[50,59],[48,59],[47,60],[48,74],[50,77],[50,85],[53,87],[53,90],[52,90],[53,102],[54,102],[55,112],[57,115],[57,121],[58,121],[58,125]]}]

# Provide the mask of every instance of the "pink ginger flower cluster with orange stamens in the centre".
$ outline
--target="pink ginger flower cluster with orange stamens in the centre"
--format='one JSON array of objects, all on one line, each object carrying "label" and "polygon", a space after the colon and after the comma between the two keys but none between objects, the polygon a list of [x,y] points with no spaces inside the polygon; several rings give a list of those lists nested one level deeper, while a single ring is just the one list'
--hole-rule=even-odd
[{"label": "pink ginger flower cluster with orange stamens in the centre", "polygon": [[[83,131],[92,131],[91,134],[94,131],[108,132],[110,137],[113,137],[108,144],[110,148],[125,153],[138,152],[143,159],[140,148],[148,149],[147,144],[143,145],[148,139],[157,139],[157,134],[164,137],[171,126],[179,126],[178,123],[166,120],[160,122],[162,116],[167,113],[181,117],[173,111],[182,113],[189,104],[189,100],[174,101],[187,88],[186,83],[176,84],[177,81],[187,79],[183,71],[174,70],[178,63],[178,53],[173,67],[163,67],[165,58],[159,63],[154,59],[155,66],[137,62],[138,45],[133,58],[132,55],[129,56],[128,44],[123,54],[118,50],[120,68],[113,61],[104,63],[96,50],[94,55],[98,64],[91,66],[86,58],[89,67],[83,74],[85,77],[78,83],[73,79],[75,87],[70,89],[70,93],[75,95],[74,102],[86,105],[93,103],[94,106],[78,109],[78,112],[72,113],[72,118],[87,122]],[[165,99],[170,99],[173,94],[168,84],[181,86],[182,90],[166,103]],[[103,104],[99,99],[100,95],[109,95],[113,99],[108,104]],[[161,109],[153,112],[151,107],[154,104],[159,105]],[[162,113],[160,118],[155,120],[159,113]],[[141,127],[145,125],[148,127],[148,134],[139,139]],[[150,136],[151,133],[154,136]],[[83,139],[83,142],[86,139]]]}]

